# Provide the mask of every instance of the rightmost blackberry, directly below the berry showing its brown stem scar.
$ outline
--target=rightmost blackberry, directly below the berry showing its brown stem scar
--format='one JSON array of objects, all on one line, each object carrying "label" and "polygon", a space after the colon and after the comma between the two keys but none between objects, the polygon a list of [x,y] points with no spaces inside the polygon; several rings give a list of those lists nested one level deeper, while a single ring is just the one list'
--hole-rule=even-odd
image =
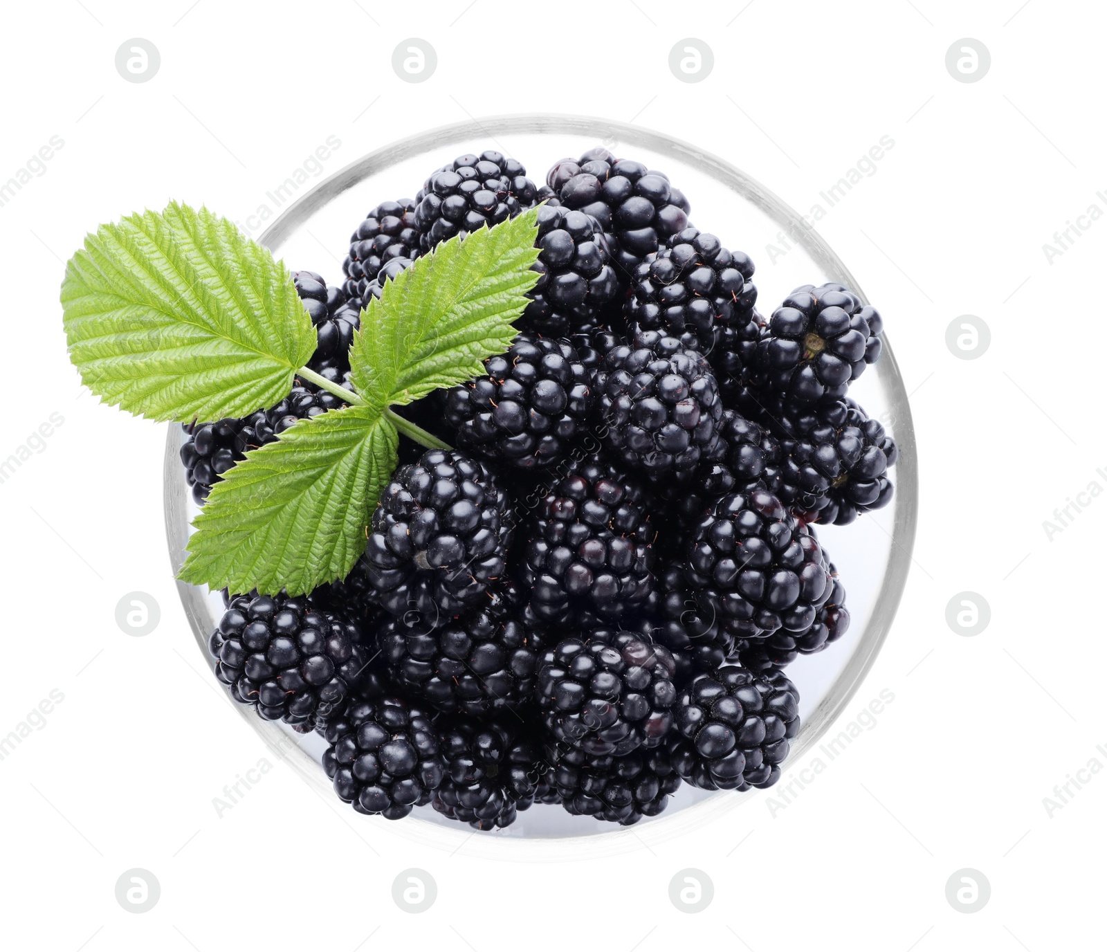
[{"label": "rightmost blackberry, directly below the berry showing its brown stem scar", "polygon": [[[779,406],[779,404],[774,405]],[[888,505],[888,468],[896,442],[852,400],[821,400],[809,407],[766,413],[779,434],[766,478],[805,522],[846,525],[859,513]]]}]

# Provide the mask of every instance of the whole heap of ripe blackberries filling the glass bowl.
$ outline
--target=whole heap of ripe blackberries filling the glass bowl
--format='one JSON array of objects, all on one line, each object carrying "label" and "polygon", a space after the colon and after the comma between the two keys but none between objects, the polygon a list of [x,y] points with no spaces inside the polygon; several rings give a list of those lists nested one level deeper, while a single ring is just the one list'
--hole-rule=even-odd
[{"label": "whole heap of ripe blackberries filling the glass bowl", "polygon": [[[799,729],[784,668],[849,625],[816,535],[888,504],[897,446],[848,390],[882,321],[841,284],[766,319],[753,261],[689,221],[666,175],[594,148],[541,188],[464,155],[354,229],[341,284],[296,272],[310,366],[349,389],[365,301],[442,240],[545,203],[539,281],[504,354],[403,414],[401,466],[350,575],[309,596],[227,596],[218,676],[318,731],[354,809],[430,805],[477,829],[535,803],[632,824],[682,784],[767,787]],[[203,504],[252,447],[341,405],[186,427]]]}]

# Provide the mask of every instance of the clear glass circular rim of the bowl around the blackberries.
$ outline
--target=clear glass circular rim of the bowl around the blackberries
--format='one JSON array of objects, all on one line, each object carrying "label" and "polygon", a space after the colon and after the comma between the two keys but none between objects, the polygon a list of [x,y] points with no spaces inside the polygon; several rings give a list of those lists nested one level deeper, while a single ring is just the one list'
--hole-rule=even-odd
[{"label": "clear glass circular rim of the bowl around the blackberries", "polygon": [[[868,300],[857,279],[804,217],[736,166],[713,153],[689,145],[665,133],[594,116],[516,113],[451,123],[406,136],[354,159],[319,182],[284,208],[256,240],[270,249],[279,247],[296,228],[331,199],[387,166],[433,148],[470,141],[480,135],[494,139],[496,134],[579,135],[594,136],[598,141],[604,138],[610,141],[613,137],[620,146],[640,146],[658,155],[695,165],[713,179],[764,211],[823,268],[825,275],[851,288],[862,300]],[[894,421],[891,428],[900,451],[896,464],[897,491],[893,499],[894,518],[890,534],[892,548],[884,567],[883,582],[872,614],[851,656],[836,676],[831,690],[805,720],[799,733],[793,739],[788,764],[796,764],[805,753],[818,743],[830,724],[853,699],[888,637],[910,572],[919,514],[917,444],[907,389],[887,332],[882,334],[882,340],[883,351],[880,362],[873,368],[873,371],[886,384],[889,410]],[[166,538],[174,576],[184,563],[190,526],[187,500],[182,498],[179,491],[174,491],[175,489],[179,490],[184,482],[180,476],[179,446],[180,430],[176,424],[169,424],[163,478]],[[208,666],[211,668],[211,660],[207,651],[209,632],[204,620],[208,598],[206,590],[177,580],[177,591],[193,635]],[[289,735],[282,728],[255,716],[242,705],[232,704],[231,706],[254,727],[270,751],[292,766],[309,786],[314,788],[315,793],[320,793],[321,786],[324,786],[330,793],[330,782],[320,769],[319,764],[306,751],[290,744]],[[784,772],[786,773],[787,769],[786,765]],[[751,790],[746,795],[734,796],[732,791],[721,790],[680,810],[661,814],[641,827],[627,828],[611,825],[611,830],[566,837],[473,837],[473,831],[462,826],[455,830],[427,820],[414,824],[394,824],[380,820],[380,818],[374,819],[386,824],[390,831],[401,832],[405,838],[415,839],[451,853],[456,852],[463,844],[468,841],[475,847],[475,849],[470,848],[470,853],[485,858],[527,862],[563,861],[587,856],[598,857],[630,851],[640,848],[646,840],[661,842],[672,839],[711,822],[732,809],[759,799],[758,794],[764,795],[765,791]],[[348,809],[345,804],[341,804],[337,799],[334,799],[334,804]],[[408,818],[408,820],[411,819],[420,820],[415,816]],[[396,829],[397,827],[405,829]],[[630,830],[633,830],[635,836],[629,836]]]}]

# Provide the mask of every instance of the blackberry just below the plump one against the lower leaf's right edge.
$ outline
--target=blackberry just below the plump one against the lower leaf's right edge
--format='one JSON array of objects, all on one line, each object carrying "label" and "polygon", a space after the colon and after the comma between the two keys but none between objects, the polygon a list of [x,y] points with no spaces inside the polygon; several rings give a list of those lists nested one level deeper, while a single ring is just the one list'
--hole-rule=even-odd
[{"label": "blackberry just below the plump one against the lower leaf's right edge", "polygon": [[529,700],[545,637],[519,589],[503,581],[458,618],[390,619],[377,644],[399,689],[439,711],[479,715]]}]

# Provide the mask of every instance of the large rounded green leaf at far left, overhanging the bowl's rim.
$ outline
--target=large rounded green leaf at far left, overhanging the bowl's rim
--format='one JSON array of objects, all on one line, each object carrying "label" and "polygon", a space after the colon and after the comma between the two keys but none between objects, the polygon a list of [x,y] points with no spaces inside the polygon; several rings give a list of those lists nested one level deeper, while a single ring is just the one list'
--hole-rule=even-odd
[{"label": "large rounded green leaf at far left, overhanging the bowl's rim", "polygon": [[89,235],[61,300],[84,384],[153,420],[271,406],[317,343],[283,263],[234,223],[177,203]]}]

